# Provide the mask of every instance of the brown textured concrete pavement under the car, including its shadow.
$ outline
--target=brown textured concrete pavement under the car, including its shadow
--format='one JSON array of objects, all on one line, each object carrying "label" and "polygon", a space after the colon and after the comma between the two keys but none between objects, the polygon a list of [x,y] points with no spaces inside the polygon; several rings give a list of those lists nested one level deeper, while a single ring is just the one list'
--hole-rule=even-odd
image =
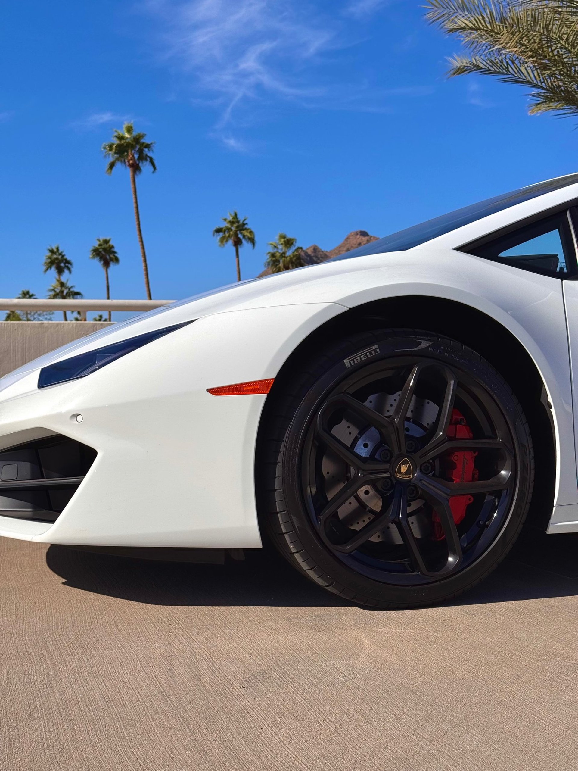
[{"label": "brown textured concrete pavement under the car, including its shadow", "polygon": [[0,540],[3,771],[578,767],[578,537],[445,607]]}]

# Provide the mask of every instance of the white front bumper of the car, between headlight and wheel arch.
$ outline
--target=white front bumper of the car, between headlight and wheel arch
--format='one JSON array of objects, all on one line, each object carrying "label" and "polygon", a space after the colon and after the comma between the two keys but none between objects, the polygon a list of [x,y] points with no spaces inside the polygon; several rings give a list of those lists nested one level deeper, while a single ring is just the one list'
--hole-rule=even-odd
[{"label": "white front bumper of the car, between headlight and wheel arch", "polygon": [[[54,523],[0,516],[0,535],[50,544],[260,547],[255,443],[264,395],[207,388],[274,378],[336,304],[200,318],[92,375],[0,392],[0,452],[55,435],[96,459]],[[82,423],[76,415],[82,415]]]}]

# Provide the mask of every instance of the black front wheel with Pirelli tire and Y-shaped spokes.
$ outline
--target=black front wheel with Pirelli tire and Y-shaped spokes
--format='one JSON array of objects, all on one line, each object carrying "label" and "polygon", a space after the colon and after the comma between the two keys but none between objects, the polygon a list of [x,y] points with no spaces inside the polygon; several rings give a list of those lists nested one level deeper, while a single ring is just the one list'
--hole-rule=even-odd
[{"label": "black front wheel with Pirelli tire and Y-shaped spokes", "polygon": [[260,518],[281,554],[376,608],[447,601],[482,581],[519,535],[533,476],[528,424],[499,373],[458,342],[408,329],[301,358],[274,383],[257,445]]}]

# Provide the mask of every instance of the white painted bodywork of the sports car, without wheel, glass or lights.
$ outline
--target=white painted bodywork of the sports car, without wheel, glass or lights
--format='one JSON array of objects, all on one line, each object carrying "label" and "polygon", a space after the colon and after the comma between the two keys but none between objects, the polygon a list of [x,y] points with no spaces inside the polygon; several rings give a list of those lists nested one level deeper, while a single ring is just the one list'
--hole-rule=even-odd
[{"label": "white painted bodywork of the sports car, without wheel, glass or lights", "polygon": [[[0,517],[0,534],[52,544],[259,547],[254,454],[266,397],[207,389],[274,378],[307,335],[377,299],[445,298],[496,319],[542,376],[556,431],[551,531],[578,531],[570,350],[578,284],[456,251],[578,198],[578,184],[517,204],[411,250],[274,274],[106,328],[0,379],[0,449],[61,433],[96,449],[55,524]],[[563,286],[565,290],[563,290]],[[196,319],[85,378],[38,389],[50,362]],[[82,423],[75,419],[82,414]]]}]

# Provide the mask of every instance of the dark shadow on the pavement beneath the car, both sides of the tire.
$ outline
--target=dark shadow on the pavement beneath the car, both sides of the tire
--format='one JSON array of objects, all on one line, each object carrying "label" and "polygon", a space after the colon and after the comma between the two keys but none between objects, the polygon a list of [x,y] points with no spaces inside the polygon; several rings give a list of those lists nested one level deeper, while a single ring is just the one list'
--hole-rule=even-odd
[{"label": "dark shadow on the pavement beneath the car, both sides of the tire", "polygon": [[[578,534],[527,530],[506,560],[452,604],[471,605],[578,594]],[[160,562],[51,546],[50,570],[66,586],[158,605],[325,607],[347,603],[315,586],[271,547],[224,565]]]}]

